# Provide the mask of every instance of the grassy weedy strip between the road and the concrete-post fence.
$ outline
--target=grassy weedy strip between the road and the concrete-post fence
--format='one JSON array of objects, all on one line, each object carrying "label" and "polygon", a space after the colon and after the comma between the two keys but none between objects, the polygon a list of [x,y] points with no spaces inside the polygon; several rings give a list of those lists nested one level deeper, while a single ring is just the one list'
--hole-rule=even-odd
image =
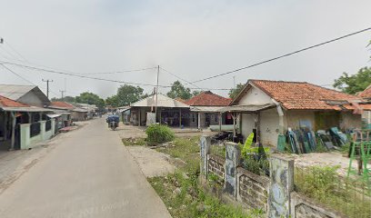
[{"label": "grassy weedy strip between the road and the concrete-post fence", "polygon": [[[204,192],[200,173],[199,137],[176,137],[174,144],[156,150],[180,158],[186,166],[167,176],[148,178],[173,217],[263,217],[260,211],[247,214],[242,208],[225,204]],[[217,183],[211,183],[217,185]]]}]

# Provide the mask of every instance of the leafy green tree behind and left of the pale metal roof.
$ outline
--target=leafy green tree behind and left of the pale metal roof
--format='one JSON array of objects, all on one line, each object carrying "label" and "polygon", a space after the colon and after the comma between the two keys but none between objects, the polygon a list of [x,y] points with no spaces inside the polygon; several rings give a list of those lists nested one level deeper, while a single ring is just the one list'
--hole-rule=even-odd
[{"label": "leafy green tree behind and left of the pale metal roof", "polygon": [[147,97],[148,94],[143,94],[143,91],[140,86],[124,84],[117,89],[117,94],[107,97],[105,103],[115,107],[127,106]]}]

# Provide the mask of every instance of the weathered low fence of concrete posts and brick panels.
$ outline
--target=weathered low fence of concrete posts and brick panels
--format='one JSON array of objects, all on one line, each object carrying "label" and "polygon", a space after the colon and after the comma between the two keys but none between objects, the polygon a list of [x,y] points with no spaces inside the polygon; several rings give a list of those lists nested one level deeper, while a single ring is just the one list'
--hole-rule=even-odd
[{"label": "weathered low fence of concrete posts and brick panels", "polygon": [[343,217],[294,192],[294,160],[279,154],[269,157],[270,175],[262,176],[242,168],[237,144],[226,143],[226,156],[210,154],[209,136],[200,139],[201,176],[216,174],[223,192],[248,208],[266,212],[267,217]]}]

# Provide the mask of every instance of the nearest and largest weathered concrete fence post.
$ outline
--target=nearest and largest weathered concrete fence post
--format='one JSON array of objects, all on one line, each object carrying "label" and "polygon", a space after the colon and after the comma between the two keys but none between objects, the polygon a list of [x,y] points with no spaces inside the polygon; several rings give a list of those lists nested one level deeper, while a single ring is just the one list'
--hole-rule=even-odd
[{"label": "nearest and largest weathered concrete fence post", "polygon": [[270,157],[268,217],[290,216],[290,193],[294,190],[294,160],[278,154]]}]

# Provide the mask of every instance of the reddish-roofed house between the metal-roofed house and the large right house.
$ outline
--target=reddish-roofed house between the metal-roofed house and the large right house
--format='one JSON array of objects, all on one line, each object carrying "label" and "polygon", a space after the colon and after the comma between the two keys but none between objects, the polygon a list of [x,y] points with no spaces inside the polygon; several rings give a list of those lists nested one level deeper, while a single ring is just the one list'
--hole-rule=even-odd
[{"label": "reddish-roofed house between the metal-roofed house and the large right house", "polygon": [[231,102],[232,99],[222,97],[210,91],[197,94],[185,102],[190,105],[190,126],[201,129],[210,125],[233,124],[230,114],[220,114],[217,112],[220,108],[226,107]]}]

